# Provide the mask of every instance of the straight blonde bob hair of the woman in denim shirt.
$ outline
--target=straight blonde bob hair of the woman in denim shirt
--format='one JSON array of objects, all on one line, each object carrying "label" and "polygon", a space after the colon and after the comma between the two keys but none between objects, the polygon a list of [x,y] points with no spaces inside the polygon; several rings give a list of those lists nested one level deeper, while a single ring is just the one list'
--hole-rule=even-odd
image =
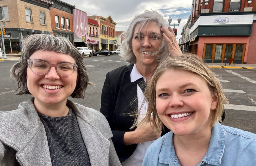
[{"label": "straight blonde bob hair of the woman in denim shirt", "polygon": [[150,122],[153,120],[154,132],[160,132],[163,129],[163,123],[158,117],[156,110],[155,91],[158,79],[164,72],[169,70],[182,70],[201,76],[201,78],[204,79],[205,82],[208,84],[211,94],[215,96],[217,94],[216,109],[211,110],[209,116],[210,126],[213,127],[216,122],[221,122],[224,104],[228,104],[228,100],[224,95],[220,82],[209,69],[209,67],[197,55],[184,54],[181,56],[173,57],[170,60],[164,61],[157,67],[146,89],[145,98],[149,99],[146,117],[137,126],[140,126],[145,122]]}]

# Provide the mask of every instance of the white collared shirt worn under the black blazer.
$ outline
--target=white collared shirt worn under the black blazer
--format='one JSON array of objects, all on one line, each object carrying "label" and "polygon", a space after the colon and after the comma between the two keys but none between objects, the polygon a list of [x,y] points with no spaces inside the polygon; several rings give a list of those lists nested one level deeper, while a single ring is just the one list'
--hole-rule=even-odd
[{"label": "white collared shirt worn under the black blazer", "polygon": [[[131,82],[135,82],[140,78],[143,78],[144,81],[146,82],[146,78],[140,74],[140,72],[137,69],[136,64],[134,64],[132,72],[131,72]],[[143,102],[145,96],[138,84],[137,84],[137,96],[138,96],[138,109],[140,110],[140,114],[139,114],[138,118],[140,121],[146,116],[148,101],[146,101],[142,105],[142,102]],[[141,106],[142,106],[142,108],[141,108]],[[145,156],[145,153],[146,153],[148,147],[154,141],[148,141],[148,142],[138,144],[135,151],[133,152],[133,154],[127,160],[125,160],[124,162],[121,163],[122,166],[141,166],[143,158]]]}]

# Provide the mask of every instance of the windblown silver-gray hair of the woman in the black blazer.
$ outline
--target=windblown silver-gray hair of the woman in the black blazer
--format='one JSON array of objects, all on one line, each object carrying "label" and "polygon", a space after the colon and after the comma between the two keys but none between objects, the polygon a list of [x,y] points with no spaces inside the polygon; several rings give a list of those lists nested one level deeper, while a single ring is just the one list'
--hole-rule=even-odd
[{"label": "windblown silver-gray hair of the woman in the black blazer", "polygon": [[[141,28],[147,26],[148,23],[154,22],[158,25],[159,29],[165,27],[168,29],[168,22],[163,18],[161,14],[156,11],[145,10],[144,13],[137,15],[129,24],[127,31],[121,34],[121,38],[124,38],[122,42],[122,54],[126,62],[136,63],[136,57],[132,50],[132,38],[134,34],[135,27],[140,24],[139,33]],[[163,33],[163,32],[161,32]],[[168,45],[164,38],[162,38],[162,44],[160,45],[158,51],[154,53],[155,58],[158,62],[166,60],[169,57]]]}]

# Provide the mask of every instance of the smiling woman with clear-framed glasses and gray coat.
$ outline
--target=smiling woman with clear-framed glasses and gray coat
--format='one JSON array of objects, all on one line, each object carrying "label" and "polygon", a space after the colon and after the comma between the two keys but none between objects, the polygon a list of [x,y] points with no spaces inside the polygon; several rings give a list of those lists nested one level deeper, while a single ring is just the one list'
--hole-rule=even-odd
[{"label": "smiling woman with clear-framed glasses and gray coat", "polygon": [[0,112],[0,165],[121,165],[106,118],[73,103],[89,82],[81,53],[63,37],[39,34],[24,41],[11,69],[17,110]]}]

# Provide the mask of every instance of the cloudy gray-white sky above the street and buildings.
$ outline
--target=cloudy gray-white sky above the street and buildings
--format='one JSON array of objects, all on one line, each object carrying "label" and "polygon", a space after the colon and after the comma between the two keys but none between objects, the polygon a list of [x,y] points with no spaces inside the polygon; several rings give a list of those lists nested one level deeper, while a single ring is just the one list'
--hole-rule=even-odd
[{"label": "cloudy gray-white sky above the street and buildings", "polygon": [[[182,21],[177,28],[177,37],[191,14],[192,0],[62,0],[71,5],[76,5],[77,9],[85,11],[88,16],[111,16],[117,23],[116,31],[125,31],[127,25],[136,15],[145,10],[155,10],[166,16],[172,17],[172,24],[178,24],[177,18],[180,16]],[[172,27],[173,28],[173,27]]]}]

